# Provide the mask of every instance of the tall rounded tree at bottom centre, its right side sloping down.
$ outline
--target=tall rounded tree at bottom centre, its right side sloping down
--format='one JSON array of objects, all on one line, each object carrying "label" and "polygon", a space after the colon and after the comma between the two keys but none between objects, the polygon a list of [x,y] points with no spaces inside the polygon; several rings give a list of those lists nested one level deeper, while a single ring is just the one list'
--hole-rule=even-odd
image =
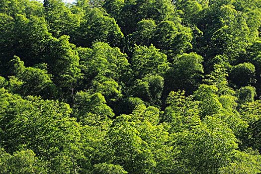
[{"label": "tall rounded tree at bottom centre, its right side sloping down", "polygon": [[[117,120],[119,119],[124,120],[128,117],[122,115]],[[129,174],[149,172],[154,166],[149,145],[139,137],[135,127],[120,120],[117,123],[117,120],[108,133],[108,148],[111,149],[112,163],[122,166]]]}]

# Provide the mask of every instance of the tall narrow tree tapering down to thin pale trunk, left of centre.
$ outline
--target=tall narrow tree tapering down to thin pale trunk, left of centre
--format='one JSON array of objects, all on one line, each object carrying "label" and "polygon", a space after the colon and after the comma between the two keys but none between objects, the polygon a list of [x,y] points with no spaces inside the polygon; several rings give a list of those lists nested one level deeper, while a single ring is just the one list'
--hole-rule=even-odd
[{"label": "tall narrow tree tapering down to thin pale trunk, left of centre", "polygon": [[59,39],[51,38],[46,62],[50,65],[48,71],[53,75],[53,82],[60,90],[60,98],[74,102],[74,88],[81,78],[79,56],[75,45],[69,43],[69,36],[63,35]]}]

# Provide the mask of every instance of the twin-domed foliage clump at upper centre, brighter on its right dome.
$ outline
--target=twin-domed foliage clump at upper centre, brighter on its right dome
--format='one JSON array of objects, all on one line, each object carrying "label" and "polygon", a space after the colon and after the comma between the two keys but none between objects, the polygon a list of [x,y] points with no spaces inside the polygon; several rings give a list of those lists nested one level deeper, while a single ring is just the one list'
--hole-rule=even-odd
[{"label": "twin-domed foliage clump at upper centre, brighter on its right dome", "polygon": [[168,57],[192,48],[191,30],[179,22],[165,20],[156,25],[153,20],[142,20],[137,25],[137,31],[127,36],[131,47],[133,44],[149,46],[152,43]]}]

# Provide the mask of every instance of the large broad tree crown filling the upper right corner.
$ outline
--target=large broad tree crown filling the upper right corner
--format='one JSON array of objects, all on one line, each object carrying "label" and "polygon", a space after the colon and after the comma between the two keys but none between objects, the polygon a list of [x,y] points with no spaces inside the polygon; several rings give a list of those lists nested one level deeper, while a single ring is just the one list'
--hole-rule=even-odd
[{"label": "large broad tree crown filling the upper right corner", "polygon": [[[227,54],[232,60],[233,58],[245,59],[242,54],[246,53],[248,44],[257,39],[256,30],[259,27],[257,20],[259,15],[254,10],[247,14],[244,10],[248,7],[244,10],[237,8],[237,4],[243,5],[244,3],[251,4],[250,1],[224,0],[215,2],[212,0],[209,1],[208,6],[197,13],[194,23],[204,33],[203,37],[198,39],[195,44],[199,54],[208,58],[213,58],[218,54]],[[252,7],[252,9],[255,8]]]}]

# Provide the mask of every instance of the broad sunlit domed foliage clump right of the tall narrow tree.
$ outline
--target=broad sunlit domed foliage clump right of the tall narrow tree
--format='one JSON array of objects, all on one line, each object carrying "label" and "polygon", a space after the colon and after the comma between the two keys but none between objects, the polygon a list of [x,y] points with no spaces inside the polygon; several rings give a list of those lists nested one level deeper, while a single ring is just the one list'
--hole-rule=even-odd
[{"label": "broad sunlit domed foliage clump right of the tall narrow tree", "polygon": [[106,77],[117,81],[128,81],[130,64],[126,54],[119,48],[111,48],[107,43],[97,42],[92,49],[78,48],[84,82],[90,85],[93,79]]}]

